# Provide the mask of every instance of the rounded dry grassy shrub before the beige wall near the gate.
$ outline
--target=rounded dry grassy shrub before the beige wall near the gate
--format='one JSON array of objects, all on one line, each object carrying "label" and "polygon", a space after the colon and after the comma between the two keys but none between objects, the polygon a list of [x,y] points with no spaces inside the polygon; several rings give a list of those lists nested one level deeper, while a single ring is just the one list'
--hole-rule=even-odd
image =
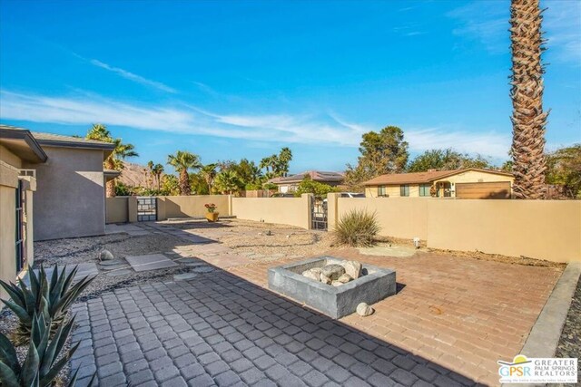
[{"label": "rounded dry grassy shrub before the beige wall near the gate", "polygon": [[367,247],[374,244],[379,232],[375,212],[364,209],[353,209],[340,218],[335,227],[335,238],[342,245]]}]

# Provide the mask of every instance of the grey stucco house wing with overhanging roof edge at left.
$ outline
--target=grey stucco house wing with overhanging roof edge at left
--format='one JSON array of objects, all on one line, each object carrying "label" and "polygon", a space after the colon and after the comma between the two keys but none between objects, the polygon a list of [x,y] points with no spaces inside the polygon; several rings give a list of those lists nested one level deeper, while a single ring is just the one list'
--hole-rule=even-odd
[{"label": "grey stucco house wing with overhanging roof edge at left", "polygon": [[105,179],[118,175],[103,172],[103,160],[113,151],[112,143],[7,125],[0,125],[0,138],[3,142],[32,139],[44,152],[43,162],[22,160],[16,167],[29,170],[36,180],[34,240],[104,234]]}]

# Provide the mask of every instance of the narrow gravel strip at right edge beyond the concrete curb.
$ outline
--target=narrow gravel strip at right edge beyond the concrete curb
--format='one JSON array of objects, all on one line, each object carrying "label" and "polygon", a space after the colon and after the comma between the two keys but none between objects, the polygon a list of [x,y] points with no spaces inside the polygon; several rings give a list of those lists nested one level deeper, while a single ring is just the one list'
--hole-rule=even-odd
[{"label": "narrow gravel strip at right edge beyond the concrete curb", "polygon": [[575,295],[573,295],[569,313],[566,315],[565,326],[556,346],[555,356],[579,359],[577,375],[581,376],[581,279],[577,282]]}]

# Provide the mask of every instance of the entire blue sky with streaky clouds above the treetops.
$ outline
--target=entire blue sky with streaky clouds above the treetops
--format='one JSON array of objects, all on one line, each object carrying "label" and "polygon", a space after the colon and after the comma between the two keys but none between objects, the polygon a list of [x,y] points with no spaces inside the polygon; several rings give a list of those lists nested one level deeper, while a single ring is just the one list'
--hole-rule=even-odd
[{"label": "entire blue sky with streaky clouds above the treetops", "polygon": [[[581,2],[549,0],[547,147],[581,141]],[[397,125],[410,153],[507,159],[509,0],[0,1],[0,119],[83,135],[103,122],[164,163],[175,150],[291,172],[356,163]]]}]

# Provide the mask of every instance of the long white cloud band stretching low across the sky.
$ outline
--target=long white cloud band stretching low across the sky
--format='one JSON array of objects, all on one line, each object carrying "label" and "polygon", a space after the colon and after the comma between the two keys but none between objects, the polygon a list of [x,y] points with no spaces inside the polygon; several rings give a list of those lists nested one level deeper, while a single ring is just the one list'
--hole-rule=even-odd
[{"label": "long white cloud band stretching low across the sky", "polygon": [[[86,93],[65,98],[0,91],[0,117],[75,125],[103,122],[145,131],[244,139],[253,144],[277,141],[347,147],[357,147],[364,132],[380,128],[346,121],[332,111],[319,118],[308,114],[218,114],[188,105],[175,108],[116,102]],[[419,152],[451,147],[506,158],[510,144],[508,135],[494,132],[404,130],[410,150]]]}]

